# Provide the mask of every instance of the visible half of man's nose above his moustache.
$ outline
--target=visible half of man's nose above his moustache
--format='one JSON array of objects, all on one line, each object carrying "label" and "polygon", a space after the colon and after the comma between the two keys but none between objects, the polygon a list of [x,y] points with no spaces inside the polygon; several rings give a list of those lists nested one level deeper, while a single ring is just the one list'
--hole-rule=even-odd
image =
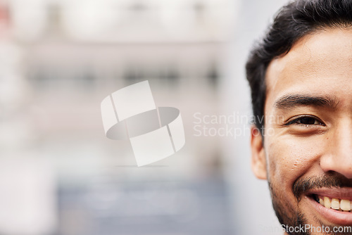
[{"label": "visible half of man's nose above his moustache", "polygon": [[340,122],[325,141],[327,151],[320,158],[322,170],[338,172],[352,179],[352,121]]}]

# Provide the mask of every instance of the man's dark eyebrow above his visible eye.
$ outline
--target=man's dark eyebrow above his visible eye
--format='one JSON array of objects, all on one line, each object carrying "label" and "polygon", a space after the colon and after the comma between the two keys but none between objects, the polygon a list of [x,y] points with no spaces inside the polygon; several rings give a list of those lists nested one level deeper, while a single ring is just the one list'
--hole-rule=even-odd
[{"label": "man's dark eyebrow above his visible eye", "polygon": [[335,97],[288,94],[275,101],[276,108],[296,108],[298,106],[318,106],[335,109],[339,101]]}]

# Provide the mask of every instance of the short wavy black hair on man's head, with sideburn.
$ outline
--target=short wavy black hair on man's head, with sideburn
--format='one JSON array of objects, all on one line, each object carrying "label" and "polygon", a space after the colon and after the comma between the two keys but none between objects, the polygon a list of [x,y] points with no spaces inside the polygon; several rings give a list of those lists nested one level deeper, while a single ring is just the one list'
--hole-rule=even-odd
[{"label": "short wavy black hair on man's head, with sideburn", "polygon": [[270,61],[289,52],[306,34],[324,28],[351,27],[351,0],[296,0],[283,6],[263,39],[253,47],[246,63],[246,78],[251,87],[253,120],[264,134],[266,98],[265,74]]}]

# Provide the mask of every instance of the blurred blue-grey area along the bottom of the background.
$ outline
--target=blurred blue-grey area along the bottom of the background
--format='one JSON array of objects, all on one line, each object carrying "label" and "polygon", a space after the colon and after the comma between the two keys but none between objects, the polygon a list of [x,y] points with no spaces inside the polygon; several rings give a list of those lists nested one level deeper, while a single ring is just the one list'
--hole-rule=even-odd
[{"label": "blurred blue-grey area along the bottom of the background", "polygon": [[59,234],[232,234],[222,180],[96,182],[59,198]]}]

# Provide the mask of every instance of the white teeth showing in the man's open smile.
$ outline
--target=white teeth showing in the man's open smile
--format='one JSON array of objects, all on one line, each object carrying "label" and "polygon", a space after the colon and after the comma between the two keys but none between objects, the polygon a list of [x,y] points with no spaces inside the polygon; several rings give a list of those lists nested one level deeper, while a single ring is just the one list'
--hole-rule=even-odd
[{"label": "white teeth showing in the man's open smile", "polygon": [[320,203],[320,205],[327,209],[339,210],[341,212],[348,213],[352,212],[352,202],[348,199],[329,198],[327,196],[320,196],[318,194],[312,194],[311,196],[317,203]]}]

